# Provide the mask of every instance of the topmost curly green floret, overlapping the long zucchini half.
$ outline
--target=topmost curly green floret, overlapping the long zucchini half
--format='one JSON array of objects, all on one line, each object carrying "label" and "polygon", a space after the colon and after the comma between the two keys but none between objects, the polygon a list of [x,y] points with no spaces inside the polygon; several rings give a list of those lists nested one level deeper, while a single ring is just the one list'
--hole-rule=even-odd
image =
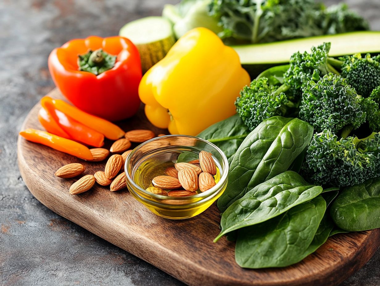
[{"label": "topmost curly green floret, overlapping the long zucchini half", "polygon": [[339,74],[328,62],[328,53],[331,43],[323,43],[318,47],[312,47],[311,53],[296,52],[290,57],[290,65],[284,73],[284,83],[290,87],[294,99],[302,95],[302,88],[310,80],[318,81],[320,76],[330,72]]}]

